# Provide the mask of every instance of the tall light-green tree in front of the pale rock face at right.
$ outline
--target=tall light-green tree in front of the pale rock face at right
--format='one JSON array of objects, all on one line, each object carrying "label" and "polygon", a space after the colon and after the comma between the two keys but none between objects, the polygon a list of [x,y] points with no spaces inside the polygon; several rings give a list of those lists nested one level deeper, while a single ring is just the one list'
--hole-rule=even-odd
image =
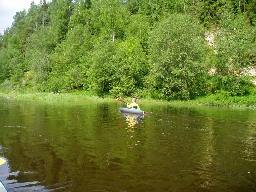
[{"label": "tall light-green tree in front of the pale rock face at right", "polygon": [[[255,44],[252,40],[253,28],[244,14],[235,15],[231,6],[225,5],[220,9],[221,29],[217,36],[216,69],[217,74],[225,76],[225,90],[232,95],[240,92],[240,78],[244,70],[253,66]],[[237,78],[233,78],[236,76]]]}]

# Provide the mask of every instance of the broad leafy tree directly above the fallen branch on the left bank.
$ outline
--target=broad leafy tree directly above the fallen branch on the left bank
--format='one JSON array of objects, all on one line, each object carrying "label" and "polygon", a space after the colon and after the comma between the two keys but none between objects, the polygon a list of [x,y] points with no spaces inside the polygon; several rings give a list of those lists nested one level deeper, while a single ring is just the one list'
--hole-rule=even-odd
[{"label": "broad leafy tree directly above the fallen branch on the left bank", "polygon": [[49,74],[47,88],[49,91],[83,85],[83,73],[87,72],[83,61],[84,57],[88,56],[88,50],[91,49],[90,30],[89,26],[76,25],[73,30],[68,31],[62,43],[56,46],[50,56],[52,70]]}]

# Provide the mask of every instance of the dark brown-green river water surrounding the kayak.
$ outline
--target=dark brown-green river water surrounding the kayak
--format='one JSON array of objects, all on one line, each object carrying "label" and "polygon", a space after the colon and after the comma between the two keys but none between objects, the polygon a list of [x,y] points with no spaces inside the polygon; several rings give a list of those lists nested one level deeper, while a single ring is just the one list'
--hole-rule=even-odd
[{"label": "dark brown-green river water surrounding the kayak", "polygon": [[12,191],[256,191],[256,110],[0,98]]}]

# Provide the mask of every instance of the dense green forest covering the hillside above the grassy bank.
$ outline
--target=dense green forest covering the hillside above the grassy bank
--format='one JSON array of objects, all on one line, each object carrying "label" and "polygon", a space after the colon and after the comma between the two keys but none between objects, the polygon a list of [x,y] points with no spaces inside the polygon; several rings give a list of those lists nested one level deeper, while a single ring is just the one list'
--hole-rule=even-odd
[{"label": "dense green forest covering the hillside above the grassy bank", "polygon": [[32,1],[0,34],[0,91],[250,95],[255,25],[256,0]]}]

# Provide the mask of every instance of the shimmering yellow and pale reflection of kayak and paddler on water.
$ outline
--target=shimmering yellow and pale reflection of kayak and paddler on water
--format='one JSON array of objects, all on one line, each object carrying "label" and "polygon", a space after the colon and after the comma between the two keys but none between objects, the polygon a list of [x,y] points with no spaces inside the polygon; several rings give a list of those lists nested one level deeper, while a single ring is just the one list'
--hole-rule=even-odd
[{"label": "shimmering yellow and pale reflection of kayak and paddler on water", "polygon": [[[120,112],[123,113],[123,112]],[[126,118],[125,123],[128,125],[126,128],[128,132],[137,132],[138,126],[143,123],[144,115],[123,113]]]}]

